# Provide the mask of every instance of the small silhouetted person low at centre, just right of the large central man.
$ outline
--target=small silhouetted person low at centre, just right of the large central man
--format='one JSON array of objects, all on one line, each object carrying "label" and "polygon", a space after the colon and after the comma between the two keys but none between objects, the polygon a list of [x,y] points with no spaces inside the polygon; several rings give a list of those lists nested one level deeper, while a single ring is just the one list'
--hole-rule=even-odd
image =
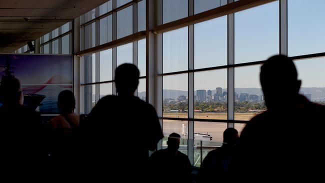
[{"label": "small silhouetted person low at centre, just right of the large central man", "polygon": [[180,135],[171,133],[165,149],[150,156],[152,182],[191,182],[192,165],[187,155],[178,150]]}]

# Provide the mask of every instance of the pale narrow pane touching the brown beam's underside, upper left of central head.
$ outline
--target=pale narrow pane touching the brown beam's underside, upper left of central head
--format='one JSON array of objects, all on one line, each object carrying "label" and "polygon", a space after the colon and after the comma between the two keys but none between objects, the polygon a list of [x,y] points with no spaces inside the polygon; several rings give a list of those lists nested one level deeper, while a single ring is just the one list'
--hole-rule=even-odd
[{"label": "pale narrow pane touching the brown beam's underside, upper left of central head", "polygon": [[99,52],[99,81],[112,80],[112,49]]}]

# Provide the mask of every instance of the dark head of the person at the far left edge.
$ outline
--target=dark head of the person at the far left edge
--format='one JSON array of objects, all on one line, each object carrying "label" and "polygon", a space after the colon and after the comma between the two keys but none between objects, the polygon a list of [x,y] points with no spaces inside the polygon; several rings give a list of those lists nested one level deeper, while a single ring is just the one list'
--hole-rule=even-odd
[{"label": "dark head of the person at the far left edge", "polygon": [[4,106],[23,104],[23,94],[17,78],[3,76],[0,84],[0,98]]}]

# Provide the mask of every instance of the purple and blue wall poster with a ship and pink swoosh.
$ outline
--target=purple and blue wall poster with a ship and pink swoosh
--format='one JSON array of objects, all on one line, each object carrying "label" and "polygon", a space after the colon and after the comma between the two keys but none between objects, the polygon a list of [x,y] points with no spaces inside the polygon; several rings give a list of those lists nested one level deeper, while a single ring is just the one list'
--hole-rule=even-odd
[{"label": "purple and blue wall poster with a ship and pink swoosh", "polygon": [[6,70],[20,80],[24,105],[41,114],[58,114],[57,96],[72,90],[72,56],[0,54],[0,80]]}]

